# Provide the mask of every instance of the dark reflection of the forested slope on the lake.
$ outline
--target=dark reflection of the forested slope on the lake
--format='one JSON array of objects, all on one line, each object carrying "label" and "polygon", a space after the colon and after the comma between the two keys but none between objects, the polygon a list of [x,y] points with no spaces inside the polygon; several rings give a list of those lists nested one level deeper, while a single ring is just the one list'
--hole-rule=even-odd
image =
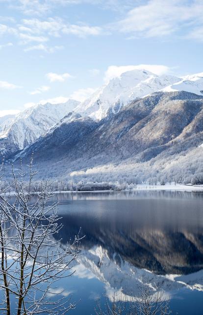
[{"label": "dark reflection of the forested slope on the lake", "polygon": [[101,246],[117,264],[124,260],[162,275],[203,268],[203,193],[121,192],[108,199],[85,193],[67,202],[58,196],[63,241],[81,226],[82,249]]}]

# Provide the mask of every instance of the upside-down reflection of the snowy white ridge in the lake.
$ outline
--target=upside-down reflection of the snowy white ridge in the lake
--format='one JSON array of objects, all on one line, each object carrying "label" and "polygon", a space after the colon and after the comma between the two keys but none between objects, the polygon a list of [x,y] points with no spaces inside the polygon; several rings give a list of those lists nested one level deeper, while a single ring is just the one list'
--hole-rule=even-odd
[{"label": "upside-down reflection of the snowy white ridge in the lake", "polygon": [[[116,256],[116,253],[114,255]],[[126,295],[132,292],[134,297],[137,296],[137,286],[143,279],[147,279],[151,287],[153,284],[161,285],[168,293],[182,287],[203,291],[203,270],[188,275],[156,275],[149,270],[134,267],[123,259],[118,264],[101,246],[94,246],[89,251],[84,251],[83,255],[79,256],[78,262],[83,266],[82,269],[87,269],[86,277],[91,273],[106,287],[123,291]],[[76,275],[79,269],[80,266],[76,267]],[[109,289],[107,291],[111,292]]]}]

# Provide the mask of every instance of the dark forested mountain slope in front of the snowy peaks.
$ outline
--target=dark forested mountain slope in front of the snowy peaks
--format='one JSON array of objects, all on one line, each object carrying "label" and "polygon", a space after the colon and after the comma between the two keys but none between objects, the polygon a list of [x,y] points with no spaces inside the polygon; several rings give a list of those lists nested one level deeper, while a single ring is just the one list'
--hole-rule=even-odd
[{"label": "dark forested mountain slope in front of the snowy peaks", "polygon": [[[181,155],[193,152],[199,159],[202,143],[203,96],[159,92],[135,100],[117,114],[109,111],[99,122],[81,117],[62,120],[23,156],[26,160],[34,152],[42,176],[46,169],[51,177],[70,178],[75,171],[76,180],[100,181],[105,174],[116,180],[129,170],[142,179],[146,174],[156,177],[163,165],[167,171]],[[194,174],[198,167],[182,171]]]}]

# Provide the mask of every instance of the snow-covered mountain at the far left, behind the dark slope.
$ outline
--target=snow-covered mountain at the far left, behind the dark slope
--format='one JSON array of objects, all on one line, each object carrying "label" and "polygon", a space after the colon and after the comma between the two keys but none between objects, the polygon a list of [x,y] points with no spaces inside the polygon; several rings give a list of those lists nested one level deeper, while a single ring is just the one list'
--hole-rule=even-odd
[{"label": "snow-covered mountain at the far left, behind the dark slope", "polygon": [[37,140],[51,126],[73,111],[78,101],[36,104],[0,124],[0,156],[8,158]]}]

